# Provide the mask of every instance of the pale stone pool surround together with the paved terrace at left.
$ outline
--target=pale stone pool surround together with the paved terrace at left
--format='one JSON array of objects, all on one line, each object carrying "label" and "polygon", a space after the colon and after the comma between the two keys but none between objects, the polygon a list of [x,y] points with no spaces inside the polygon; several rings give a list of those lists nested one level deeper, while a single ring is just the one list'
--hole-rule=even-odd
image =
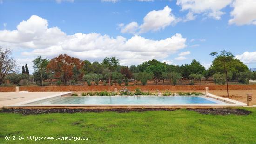
[{"label": "pale stone pool surround together with the paved terrace at left", "polygon": [[[82,108],[82,109],[113,109],[113,108],[220,108],[220,107],[242,107],[245,103],[206,94],[225,102],[225,104],[28,104],[47,98],[71,95],[73,92],[23,92],[23,93],[1,93],[0,107],[2,108]],[[6,98],[6,100],[4,100]]]}]

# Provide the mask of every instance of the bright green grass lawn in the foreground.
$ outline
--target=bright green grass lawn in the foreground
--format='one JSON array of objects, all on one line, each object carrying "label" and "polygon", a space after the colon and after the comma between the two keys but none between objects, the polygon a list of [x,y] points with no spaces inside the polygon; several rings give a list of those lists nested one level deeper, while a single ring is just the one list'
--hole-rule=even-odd
[{"label": "bright green grass lawn in the foreground", "polygon": [[[20,115],[0,113],[0,143],[256,143],[256,108],[247,116],[194,111],[85,112]],[[24,140],[5,140],[24,136]],[[34,141],[34,137],[88,137]]]}]

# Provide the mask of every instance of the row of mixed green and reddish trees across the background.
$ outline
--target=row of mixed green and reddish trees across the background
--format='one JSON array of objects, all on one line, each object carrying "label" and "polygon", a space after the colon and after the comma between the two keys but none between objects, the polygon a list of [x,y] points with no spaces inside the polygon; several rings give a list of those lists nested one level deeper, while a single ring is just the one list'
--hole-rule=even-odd
[{"label": "row of mixed green and reddish trees across the background", "polygon": [[[8,49],[1,47],[0,51],[14,60],[10,57],[11,53]],[[116,57],[106,57],[102,62],[90,62],[67,54],[60,54],[53,59],[43,59],[38,56],[32,61],[34,68],[32,75],[29,75],[26,64],[25,67],[22,66],[21,74],[16,74],[17,71],[14,70],[3,74],[0,83],[2,84],[5,80],[12,84],[33,81],[40,84],[43,89],[44,81],[52,84],[53,80],[57,80],[56,85],[72,85],[77,81],[85,81],[88,85],[99,85],[99,82],[103,85],[122,85],[122,83],[128,85],[128,81],[134,81],[137,85],[140,81],[142,85],[147,85],[148,80],[154,80],[156,85],[160,80],[163,83],[168,81],[166,85],[181,85],[182,79],[189,79],[189,85],[194,85],[196,80],[207,80],[213,77],[216,84],[223,85],[230,80],[248,84],[249,79],[256,79],[256,72],[249,71],[248,67],[236,59],[231,52],[213,52],[211,55],[215,59],[208,69],[195,59],[190,64],[183,65],[171,65],[152,59],[128,67],[120,65]],[[7,58],[1,56],[1,59]],[[13,67],[16,66],[15,62]]]}]

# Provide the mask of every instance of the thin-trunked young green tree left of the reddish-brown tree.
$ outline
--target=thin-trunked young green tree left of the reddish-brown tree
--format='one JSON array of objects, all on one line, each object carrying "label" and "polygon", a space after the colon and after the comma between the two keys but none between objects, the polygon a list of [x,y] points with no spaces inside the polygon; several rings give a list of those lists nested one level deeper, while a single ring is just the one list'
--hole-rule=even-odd
[{"label": "thin-trunked young green tree left of the reddish-brown tree", "polygon": [[33,68],[35,71],[40,71],[41,74],[41,83],[42,83],[42,92],[43,92],[43,71],[46,70],[46,67],[49,63],[48,59],[43,59],[42,56],[38,56],[37,58],[35,58],[33,61]]}]

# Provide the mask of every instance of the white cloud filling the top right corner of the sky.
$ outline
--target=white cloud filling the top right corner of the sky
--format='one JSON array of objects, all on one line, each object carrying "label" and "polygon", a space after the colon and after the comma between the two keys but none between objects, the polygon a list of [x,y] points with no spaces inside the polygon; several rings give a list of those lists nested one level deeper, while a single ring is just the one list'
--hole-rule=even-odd
[{"label": "white cloud filling the top right corner of the sky", "polygon": [[230,12],[232,19],[229,24],[241,25],[256,25],[256,1],[253,0],[237,0],[231,5],[233,11]]}]

